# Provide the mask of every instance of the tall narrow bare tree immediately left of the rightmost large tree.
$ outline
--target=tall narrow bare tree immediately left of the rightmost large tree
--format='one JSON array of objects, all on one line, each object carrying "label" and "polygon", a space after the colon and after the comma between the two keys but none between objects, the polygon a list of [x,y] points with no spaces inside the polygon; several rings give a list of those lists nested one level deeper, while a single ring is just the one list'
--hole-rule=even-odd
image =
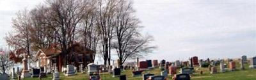
[{"label": "tall narrow bare tree immediately left of the rightmost large tree", "polygon": [[111,61],[111,41],[113,39],[113,26],[115,25],[113,18],[117,3],[116,0],[99,1],[97,26],[99,27],[104,65],[107,65],[107,62],[110,65]]}]

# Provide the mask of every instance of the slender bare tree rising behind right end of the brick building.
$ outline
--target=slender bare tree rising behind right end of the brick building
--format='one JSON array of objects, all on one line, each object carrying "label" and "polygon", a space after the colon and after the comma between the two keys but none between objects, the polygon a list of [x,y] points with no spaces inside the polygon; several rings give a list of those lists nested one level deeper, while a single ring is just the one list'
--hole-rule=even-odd
[{"label": "slender bare tree rising behind right end of the brick building", "polygon": [[99,31],[97,31],[96,20],[97,15],[97,1],[91,1],[88,10],[81,21],[81,29],[79,29],[79,36],[81,36],[81,43],[84,48],[91,49],[94,54],[90,55],[91,60],[94,62],[97,47],[99,44]]}]

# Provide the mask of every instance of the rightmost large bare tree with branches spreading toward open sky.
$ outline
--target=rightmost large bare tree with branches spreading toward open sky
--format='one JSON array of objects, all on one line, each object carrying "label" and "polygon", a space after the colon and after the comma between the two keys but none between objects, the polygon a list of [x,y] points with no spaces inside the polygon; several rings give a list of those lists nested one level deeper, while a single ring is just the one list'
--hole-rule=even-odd
[{"label": "rightmost large bare tree with branches spreading toward open sky", "polygon": [[127,58],[143,56],[143,53],[152,52],[154,46],[148,45],[152,41],[152,36],[143,38],[138,32],[140,20],[133,15],[131,1],[120,0],[115,16],[115,42],[113,48],[116,49],[120,65]]}]

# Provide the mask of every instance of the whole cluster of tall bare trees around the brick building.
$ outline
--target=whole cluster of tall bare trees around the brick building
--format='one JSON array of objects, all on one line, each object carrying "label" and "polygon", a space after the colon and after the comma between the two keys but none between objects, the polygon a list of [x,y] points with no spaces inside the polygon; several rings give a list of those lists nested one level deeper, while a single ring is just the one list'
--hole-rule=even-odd
[{"label": "whole cluster of tall bare trees around the brick building", "polygon": [[17,12],[13,31],[5,39],[13,49],[30,56],[58,44],[66,59],[68,47],[78,42],[95,52],[90,56],[93,61],[96,54],[102,56],[104,65],[110,65],[111,50],[115,50],[122,65],[128,58],[145,56],[155,48],[150,45],[153,37],[140,33],[143,26],[134,12],[129,0],[47,0]]}]

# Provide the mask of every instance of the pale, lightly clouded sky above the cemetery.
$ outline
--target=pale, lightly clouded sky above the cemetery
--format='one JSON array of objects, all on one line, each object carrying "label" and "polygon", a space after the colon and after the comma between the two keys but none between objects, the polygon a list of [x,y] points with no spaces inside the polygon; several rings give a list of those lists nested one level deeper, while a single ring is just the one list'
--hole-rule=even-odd
[{"label": "pale, lightly clouded sky above the cemetery", "polygon": [[[12,31],[12,18],[43,0],[0,0],[0,46]],[[256,56],[256,1],[135,0],[142,32],[157,49],[142,60],[188,60]],[[114,57],[115,58],[115,57]]]}]

